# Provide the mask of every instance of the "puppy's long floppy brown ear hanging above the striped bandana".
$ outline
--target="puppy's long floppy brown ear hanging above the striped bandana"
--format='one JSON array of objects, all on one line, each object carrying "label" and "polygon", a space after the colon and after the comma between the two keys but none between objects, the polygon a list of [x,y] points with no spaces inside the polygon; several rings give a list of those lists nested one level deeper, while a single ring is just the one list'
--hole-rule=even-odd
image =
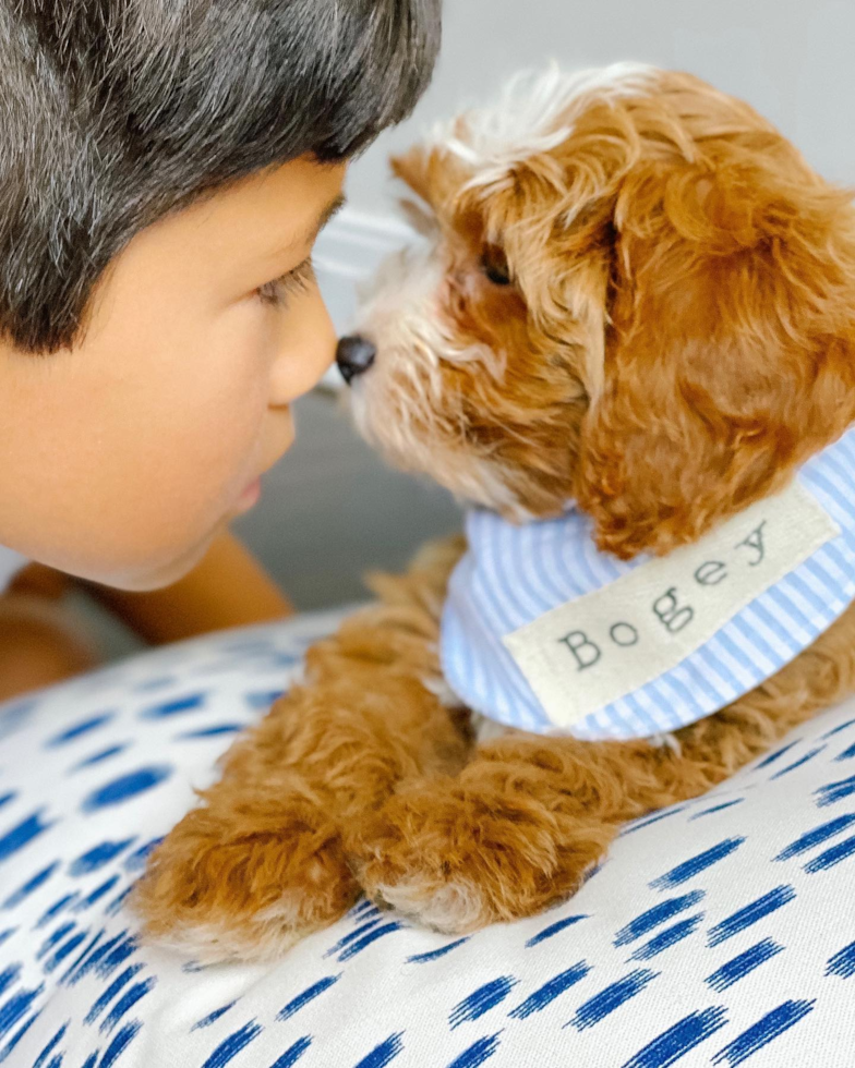
[{"label": "puppy's long floppy brown ear hanging above the striped bandana", "polygon": [[638,166],[615,204],[575,495],[622,558],[698,538],[855,418],[851,194],[783,138],[716,151],[714,169]]}]

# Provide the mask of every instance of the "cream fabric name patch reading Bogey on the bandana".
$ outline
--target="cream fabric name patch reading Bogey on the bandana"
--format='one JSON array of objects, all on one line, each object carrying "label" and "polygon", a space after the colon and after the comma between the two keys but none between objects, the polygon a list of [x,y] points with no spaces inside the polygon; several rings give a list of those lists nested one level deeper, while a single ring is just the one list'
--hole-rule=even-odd
[{"label": "cream fabric name patch reading Bogey on the bandana", "polygon": [[570,727],[677,667],[840,533],[794,483],[503,643],[552,721]]}]

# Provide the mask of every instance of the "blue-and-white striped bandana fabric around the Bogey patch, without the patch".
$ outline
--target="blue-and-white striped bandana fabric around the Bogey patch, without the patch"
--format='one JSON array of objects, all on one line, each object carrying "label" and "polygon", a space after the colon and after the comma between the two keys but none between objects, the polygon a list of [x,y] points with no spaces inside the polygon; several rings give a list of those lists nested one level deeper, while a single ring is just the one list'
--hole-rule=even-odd
[{"label": "blue-and-white striped bandana fabric around the Bogey patch, without the patch", "polygon": [[[722,626],[673,670],[580,719],[586,740],[646,738],[716,712],[807,648],[855,598],[855,428],[797,473],[841,534]],[[502,639],[558,605],[601,590],[649,561],[600,553],[591,520],[515,526],[494,512],[467,517],[469,550],[451,577],[443,670],[469,707],[510,727],[558,732]]]}]

